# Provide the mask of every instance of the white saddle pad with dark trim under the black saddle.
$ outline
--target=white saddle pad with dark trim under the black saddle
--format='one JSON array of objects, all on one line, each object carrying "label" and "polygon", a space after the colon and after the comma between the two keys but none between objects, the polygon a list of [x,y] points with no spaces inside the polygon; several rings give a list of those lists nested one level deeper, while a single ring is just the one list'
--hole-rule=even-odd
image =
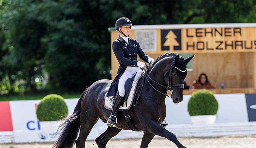
[{"label": "white saddle pad with dark trim under the black saddle", "polygon": [[[133,97],[134,97],[134,94],[135,94],[135,89],[136,89],[137,84],[139,82],[139,78],[142,76],[142,74],[143,74],[142,70],[139,70],[136,73],[136,76],[134,78],[129,96],[128,96],[127,100],[123,103],[123,105],[120,106],[119,110],[129,109],[131,107],[132,102],[133,102]],[[107,93],[108,93],[108,91],[107,91]],[[105,94],[105,97],[104,97],[104,106],[105,106],[106,109],[111,110],[112,105],[113,105],[114,96],[106,97],[107,93]]]}]

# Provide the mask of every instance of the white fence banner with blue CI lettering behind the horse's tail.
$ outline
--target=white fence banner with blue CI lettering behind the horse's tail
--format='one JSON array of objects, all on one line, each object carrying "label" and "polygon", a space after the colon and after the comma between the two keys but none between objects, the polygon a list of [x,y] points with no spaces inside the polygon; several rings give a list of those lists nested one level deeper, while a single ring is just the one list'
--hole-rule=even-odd
[{"label": "white fence banner with blue CI lettering behind the horse's tail", "polygon": [[[68,116],[73,114],[77,101],[78,99],[65,99]],[[59,137],[60,133],[55,129],[42,129],[36,117],[36,106],[39,102],[40,100],[10,101],[15,143],[53,142]]]}]

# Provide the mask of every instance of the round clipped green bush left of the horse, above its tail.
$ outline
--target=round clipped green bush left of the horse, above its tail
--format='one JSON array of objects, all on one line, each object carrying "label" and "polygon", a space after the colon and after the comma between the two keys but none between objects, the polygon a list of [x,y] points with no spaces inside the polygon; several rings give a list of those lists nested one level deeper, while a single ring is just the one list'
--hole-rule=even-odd
[{"label": "round clipped green bush left of the horse, above its tail", "polygon": [[48,94],[39,102],[36,115],[39,121],[61,120],[67,117],[68,106],[62,96]]}]

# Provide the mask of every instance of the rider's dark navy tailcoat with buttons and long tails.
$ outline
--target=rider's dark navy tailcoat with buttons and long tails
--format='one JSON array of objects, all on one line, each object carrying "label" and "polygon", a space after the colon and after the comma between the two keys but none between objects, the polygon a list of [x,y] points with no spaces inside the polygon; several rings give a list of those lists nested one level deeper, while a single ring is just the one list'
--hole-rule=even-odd
[{"label": "rider's dark navy tailcoat with buttons and long tails", "polygon": [[127,66],[138,67],[137,55],[139,55],[141,60],[148,63],[149,56],[142,51],[137,40],[128,37],[128,42],[129,44],[119,35],[118,39],[112,43],[112,50],[120,65],[117,70],[117,75],[110,85],[107,96],[114,96],[117,92],[119,79],[125,72]]}]

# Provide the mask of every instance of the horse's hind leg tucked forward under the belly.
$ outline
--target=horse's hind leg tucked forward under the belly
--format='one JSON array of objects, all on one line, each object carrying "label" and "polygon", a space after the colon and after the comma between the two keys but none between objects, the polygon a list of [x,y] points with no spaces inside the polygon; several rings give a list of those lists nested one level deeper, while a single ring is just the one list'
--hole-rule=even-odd
[{"label": "horse's hind leg tucked forward under the belly", "polygon": [[98,147],[99,148],[106,148],[106,145],[107,145],[108,141],[121,131],[122,131],[122,129],[118,129],[118,128],[114,128],[114,127],[108,127],[105,132],[103,132],[99,137],[97,137],[95,139]]}]

